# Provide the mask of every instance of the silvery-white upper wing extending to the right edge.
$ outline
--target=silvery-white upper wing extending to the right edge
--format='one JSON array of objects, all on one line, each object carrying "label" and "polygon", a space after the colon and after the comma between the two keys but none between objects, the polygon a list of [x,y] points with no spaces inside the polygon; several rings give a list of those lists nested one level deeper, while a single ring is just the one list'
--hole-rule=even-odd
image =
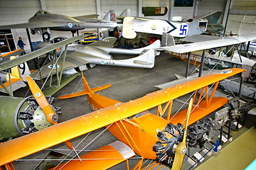
[{"label": "silvery-white upper wing extending to the right edge", "polygon": [[159,47],[158,50],[167,50],[171,52],[185,53],[198,50],[205,50],[214,47],[223,47],[227,45],[235,45],[241,42],[248,42],[256,39],[256,33],[250,33],[242,36],[233,36],[218,38],[217,40],[205,40],[202,42],[195,42],[191,44],[174,45],[169,47]]}]

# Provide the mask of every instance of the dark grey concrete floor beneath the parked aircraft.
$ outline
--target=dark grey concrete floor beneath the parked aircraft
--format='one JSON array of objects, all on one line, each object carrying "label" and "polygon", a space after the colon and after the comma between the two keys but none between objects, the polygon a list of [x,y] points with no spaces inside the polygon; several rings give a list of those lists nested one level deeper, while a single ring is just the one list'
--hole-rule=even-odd
[{"label": "dark grey concrete floor beneath the parked aircraft", "polygon": [[[114,56],[114,59],[121,59],[120,56]],[[192,68],[193,66],[191,66]],[[84,71],[85,78],[91,87],[102,86],[104,84],[112,84],[112,86],[108,89],[100,91],[100,94],[103,96],[107,96],[110,98],[114,98],[116,100],[127,102],[129,100],[133,100],[135,98],[140,98],[145,94],[149,94],[158,89],[154,88],[157,84],[163,84],[167,81],[171,81],[176,79],[174,74],[185,75],[186,72],[186,62],[176,59],[175,57],[171,57],[171,55],[166,55],[166,53],[161,52],[161,55],[156,57],[155,67],[153,69],[139,69],[139,68],[130,68],[130,67],[111,67],[111,66],[102,66],[97,65],[92,69],[88,69]],[[70,84],[65,86],[63,89],[58,91],[54,97],[63,96],[64,94],[70,94],[76,91],[80,91],[82,88],[81,77],[77,77]],[[21,92],[16,92],[14,95],[21,96]],[[77,98],[69,98],[69,99],[58,99],[55,98],[53,102],[53,106],[61,107],[62,114],[59,115],[60,122],[65,120],[70,120],[72,118],[76,118],[80,115],[84,115],[92,112],[90,106],[87,104],[84,96],[80,96]],[[180,104],[176,103],[174,105],[174,110],[179,108]],[[89,137],[85,141],[82,142],[78,148],[82,149],[88,142],[94,139],[95,136],[100,134],[100,132],[104,130],[103,128],[100,130],[95,130],[90,134]],[[77,137],[73,140],[73,145],[77,145],[85,135],[81,137]],[[87,149],[97,149],[104,145],[109,144],[110,142],[114,142],[116,138],[110,134],[110,132],[106,131],[105,135],[99,138],[99,140],[93,142],[94,145],[90,145]],[[53,148],[58,149],[66,149],[65,145],[60,144]],[[48,154],[49,150],[44,150],[42,152],[38,152],[31,156],[26,157],[25,159],[43,159]],[[64,152],[64,151],[62,151]],[[132,161],[131,164],[135,164],[136,161]],[[52,164],[54,162],[48,162],[44,164]],[[16,169],[34,169],[38,164],[38,161],[26,161],[26,162],[14,162]],[[122,169],[124,164],[113,169]],[[48,168],[48,166],[44,166],[44,168]],[[37,169],[43,169],[39,166]]]}]

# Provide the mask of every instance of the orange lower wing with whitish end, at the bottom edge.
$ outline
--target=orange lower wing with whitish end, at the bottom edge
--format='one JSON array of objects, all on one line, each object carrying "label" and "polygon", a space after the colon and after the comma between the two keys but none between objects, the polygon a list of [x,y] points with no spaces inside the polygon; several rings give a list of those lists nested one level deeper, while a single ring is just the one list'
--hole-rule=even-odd
[{"label": "orange lower wing with whitish end, at the bottom edge", "polygon": [[117,140],[116,142],[82,155],[80,157],[82,162],[79,159],[73,159],[68,164],[63,163],[53,169],[110,169],[112,166],[134,156],[135,153],[130,147]]}]

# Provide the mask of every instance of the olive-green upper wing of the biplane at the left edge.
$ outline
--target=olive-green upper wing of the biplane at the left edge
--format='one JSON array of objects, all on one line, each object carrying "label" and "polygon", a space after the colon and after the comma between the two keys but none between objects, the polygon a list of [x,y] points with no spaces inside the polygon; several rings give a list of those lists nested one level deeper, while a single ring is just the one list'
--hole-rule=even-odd
[{"label": "olive-green upper wing of the biplane at the left edge", "polygon": [[22,57],[18,57],[14,60],[11,61],[7,61],[7,62],[3,62],[0,64],[0,71],[5,70],[5,69],[9,69],[11,67],[14,67],[18,64],[21,64],[23,62],[27,62],[28,60],[32,60],[40,55],[44,55],[47,52],[53,51],[58,47],[62,47],[64,45],[68,45],[70,42],[73,42],[75,40],[80,40],[82,38],[85,38],[87,35],[79,35],[77,37],[74,38],[69,38],[68,40],[63,40],[61,42],[57,42],[53,45],[50,45],[48,47],[43,47],[39,50],[36,50],[34,52],[28,53],[27,55],[23,55]]}]

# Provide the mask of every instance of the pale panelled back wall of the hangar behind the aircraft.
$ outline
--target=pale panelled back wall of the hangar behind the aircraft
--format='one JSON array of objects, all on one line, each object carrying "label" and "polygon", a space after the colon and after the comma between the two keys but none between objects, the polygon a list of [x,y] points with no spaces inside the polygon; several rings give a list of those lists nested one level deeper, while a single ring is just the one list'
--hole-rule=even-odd
[{"label": "pale panelled back wall of the hangar behind the aircraft", "polygon": [[[250,1],[252,0],[247,1],[247,4],[250,4]],[[137,4],[141,4],[141,6],[166,6],[170,11],[171,4],[174,3],[174,0],[1,0],[0,25],[28,22],[28,18],[31,18],[36,11],[41,10],[41,2],[43,2],[42,7],[46,7],[47,11],[52,13],[60,13],[67,16],[81,16],[97,13],[96,4],[98,3],[100,6],[100,11],[98,14],[100,14],[102,17],[105,16],[105,13],[111,9],[113,9],[117,16],[119,16],[119,14],[122,13],[125,8],[131,9],[132,16],[138,16]],[[198,16],[204,16],[213,11],[223,11],[225,9],[225,3],[226,0],[215,0],[214,2],[212,0],[198,1]],[[247,9],[247,11],[253,10]],[[173,7],[171,16],[182,16],[185,20],[192,18],[193,7]],[[168,19],[169,15],[166,14],[166,16],[154,18]],[[24,42],[27,44],[25,49],[29,50],[30,47],[28,45],[26,30],[22,28],[13,29],[12,31],[16,41],[19,36],[23,37]],[[53,37],[63,35],[69,38],[72,36],[70,32],[51,31],[51,33]],[[42,40],[41,35],[31,35],[31,39],[32,41]]]}]

